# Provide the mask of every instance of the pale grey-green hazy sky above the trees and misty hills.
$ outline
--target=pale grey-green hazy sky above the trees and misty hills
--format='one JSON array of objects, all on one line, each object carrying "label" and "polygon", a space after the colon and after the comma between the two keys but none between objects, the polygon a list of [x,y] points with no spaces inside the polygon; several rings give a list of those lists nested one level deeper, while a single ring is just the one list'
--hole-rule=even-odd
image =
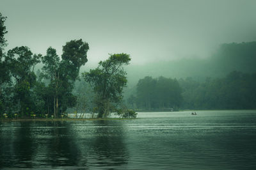
[{"label": "pale grey-green hazy sky above the trees and misty hills", "polygon": [[0,0],[8,49],[34,53],[82,38],[88,64],[108,54],[131,54],[132,63],[209,56],[220,43],[256,40],[256,1]]}]

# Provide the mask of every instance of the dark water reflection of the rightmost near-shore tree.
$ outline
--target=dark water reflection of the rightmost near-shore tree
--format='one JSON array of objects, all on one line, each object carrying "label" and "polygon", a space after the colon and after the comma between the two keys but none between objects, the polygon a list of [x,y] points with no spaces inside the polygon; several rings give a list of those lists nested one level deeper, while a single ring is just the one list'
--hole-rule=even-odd
[{"label": "dark water reflection of the rightmost near-shore tree", "polygon": [[92,143],[95,160],[100,166],[115,167],[127,164],[128,153],[124,144],[124,132],[118,122],[95,121],[95,137]]}]

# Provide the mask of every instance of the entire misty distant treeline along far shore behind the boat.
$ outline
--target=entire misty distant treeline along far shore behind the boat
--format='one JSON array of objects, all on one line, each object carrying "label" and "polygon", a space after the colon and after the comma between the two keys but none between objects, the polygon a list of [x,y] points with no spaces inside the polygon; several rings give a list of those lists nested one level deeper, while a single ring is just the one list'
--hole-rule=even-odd
[{"label": "entire misty distant treeline along far shore behind the boat", "polygon": [[177,109],[256,109],[256,73],[231,72],[204,82],[145,77],[127,103],[142,111]]}]

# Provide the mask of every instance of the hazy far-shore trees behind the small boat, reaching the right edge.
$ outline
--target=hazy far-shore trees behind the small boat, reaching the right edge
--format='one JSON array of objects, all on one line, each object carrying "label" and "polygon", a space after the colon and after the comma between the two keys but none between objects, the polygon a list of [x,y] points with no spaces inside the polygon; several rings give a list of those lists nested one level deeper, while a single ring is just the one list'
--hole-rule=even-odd
[{"label": "hazy far-shore trees behind the small boat, reaching the right edge", "polygon": [[256,74],[231,72],[221,79],[180,79],[184,109],[256,109]]}]

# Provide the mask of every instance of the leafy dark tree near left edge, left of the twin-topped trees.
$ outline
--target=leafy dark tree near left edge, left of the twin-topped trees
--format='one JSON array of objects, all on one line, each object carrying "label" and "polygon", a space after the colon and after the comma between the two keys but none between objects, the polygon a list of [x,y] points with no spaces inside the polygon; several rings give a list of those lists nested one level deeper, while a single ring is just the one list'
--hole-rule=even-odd
[{"label": "leafy dark tree near left edge, left of the twin-topped trees", "polygon": [[8,50],[5,58],[13,77],[13,104],[18,108],[15,111],[21,112],[22,116],[25,112],[29,114],[34,105],[31,94],[36,82],[36,75],[31,68],[39,61],[40,56],[33,55],[31,50],[24,46]]}]

